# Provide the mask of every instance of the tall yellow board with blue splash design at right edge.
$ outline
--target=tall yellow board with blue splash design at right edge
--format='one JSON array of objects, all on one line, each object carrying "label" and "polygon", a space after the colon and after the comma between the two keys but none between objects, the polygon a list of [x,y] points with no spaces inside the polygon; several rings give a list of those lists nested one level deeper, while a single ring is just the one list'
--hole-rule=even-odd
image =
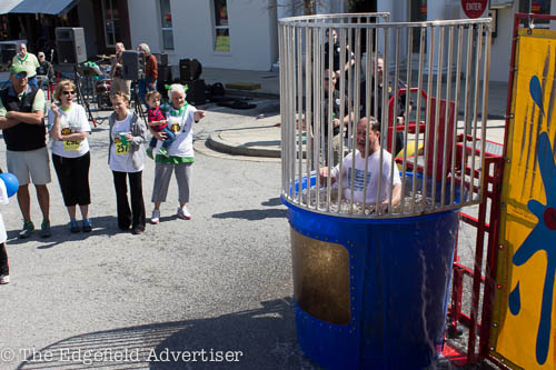
[{"label": "tall yellow board with blue splash design at right edge", "polygon": [[492,354],[556,367],[556,31],[519,29],[506,143]]}]

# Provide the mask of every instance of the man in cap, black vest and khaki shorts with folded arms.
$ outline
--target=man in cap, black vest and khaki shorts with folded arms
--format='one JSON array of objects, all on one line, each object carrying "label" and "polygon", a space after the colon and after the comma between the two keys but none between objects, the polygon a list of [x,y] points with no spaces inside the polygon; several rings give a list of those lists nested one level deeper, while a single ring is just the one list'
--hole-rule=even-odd
[{"label": "man in cap, black vest and khaki shorts with folded arms", "polygon": [[23,216],[21,239],[29,238],[34,226],[31,221],[29,182],[34,183],[42,212],[42,238],[50,237],[47,183],[50,182],[44,128],[44,93],[27,82],[27,69],[22,64],[10,67],[10,82],[0,91],[0,129],[6,140],[8,171],[19,180],[18,203]]}]

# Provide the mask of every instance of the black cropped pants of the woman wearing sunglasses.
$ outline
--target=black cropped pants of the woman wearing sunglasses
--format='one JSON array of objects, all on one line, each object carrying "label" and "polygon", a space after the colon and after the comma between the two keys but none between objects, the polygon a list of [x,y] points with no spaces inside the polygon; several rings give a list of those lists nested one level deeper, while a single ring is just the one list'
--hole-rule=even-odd
[{"label": "black cropped pants of the woman wearing sunglasses", "polygon": [[89,167],[91,166],[90,152],[78,158],[66,158],[52,154],[58,182],[62,190],[63,204],[88,206],[91,203],[89,188]]}]

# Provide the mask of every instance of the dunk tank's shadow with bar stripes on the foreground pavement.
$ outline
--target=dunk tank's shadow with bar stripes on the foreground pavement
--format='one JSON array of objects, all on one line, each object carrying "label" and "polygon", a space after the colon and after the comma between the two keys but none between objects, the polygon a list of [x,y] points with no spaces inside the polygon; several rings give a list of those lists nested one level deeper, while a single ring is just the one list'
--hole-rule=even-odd
[{"label": "dunk tank's shadow with bar stripes on the foreground pavement", "polygon": [[216,318],[70,337],[21,361],[18,369],[315,368],[297,344],[289,297]]}]

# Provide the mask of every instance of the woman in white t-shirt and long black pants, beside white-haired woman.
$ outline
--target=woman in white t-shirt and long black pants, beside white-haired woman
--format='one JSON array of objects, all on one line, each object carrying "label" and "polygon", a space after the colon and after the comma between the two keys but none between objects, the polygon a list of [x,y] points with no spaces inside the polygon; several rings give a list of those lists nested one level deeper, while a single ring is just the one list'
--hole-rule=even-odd
[{"label": "woman in white t-shirt and long black pants, beside white-haired woman", "polygon": [[[142,198],[142,169],[145,167],[145,131],[147,126],[135,112],[129,111],[129,97],[118,91],[111,97],[113,113],[108,119],[110,126],[108,164],[112,170],[116,188],[118,227],[133,234],[145,231],[145,202]],[[131,209],[128,202],[128,187]]]}]

